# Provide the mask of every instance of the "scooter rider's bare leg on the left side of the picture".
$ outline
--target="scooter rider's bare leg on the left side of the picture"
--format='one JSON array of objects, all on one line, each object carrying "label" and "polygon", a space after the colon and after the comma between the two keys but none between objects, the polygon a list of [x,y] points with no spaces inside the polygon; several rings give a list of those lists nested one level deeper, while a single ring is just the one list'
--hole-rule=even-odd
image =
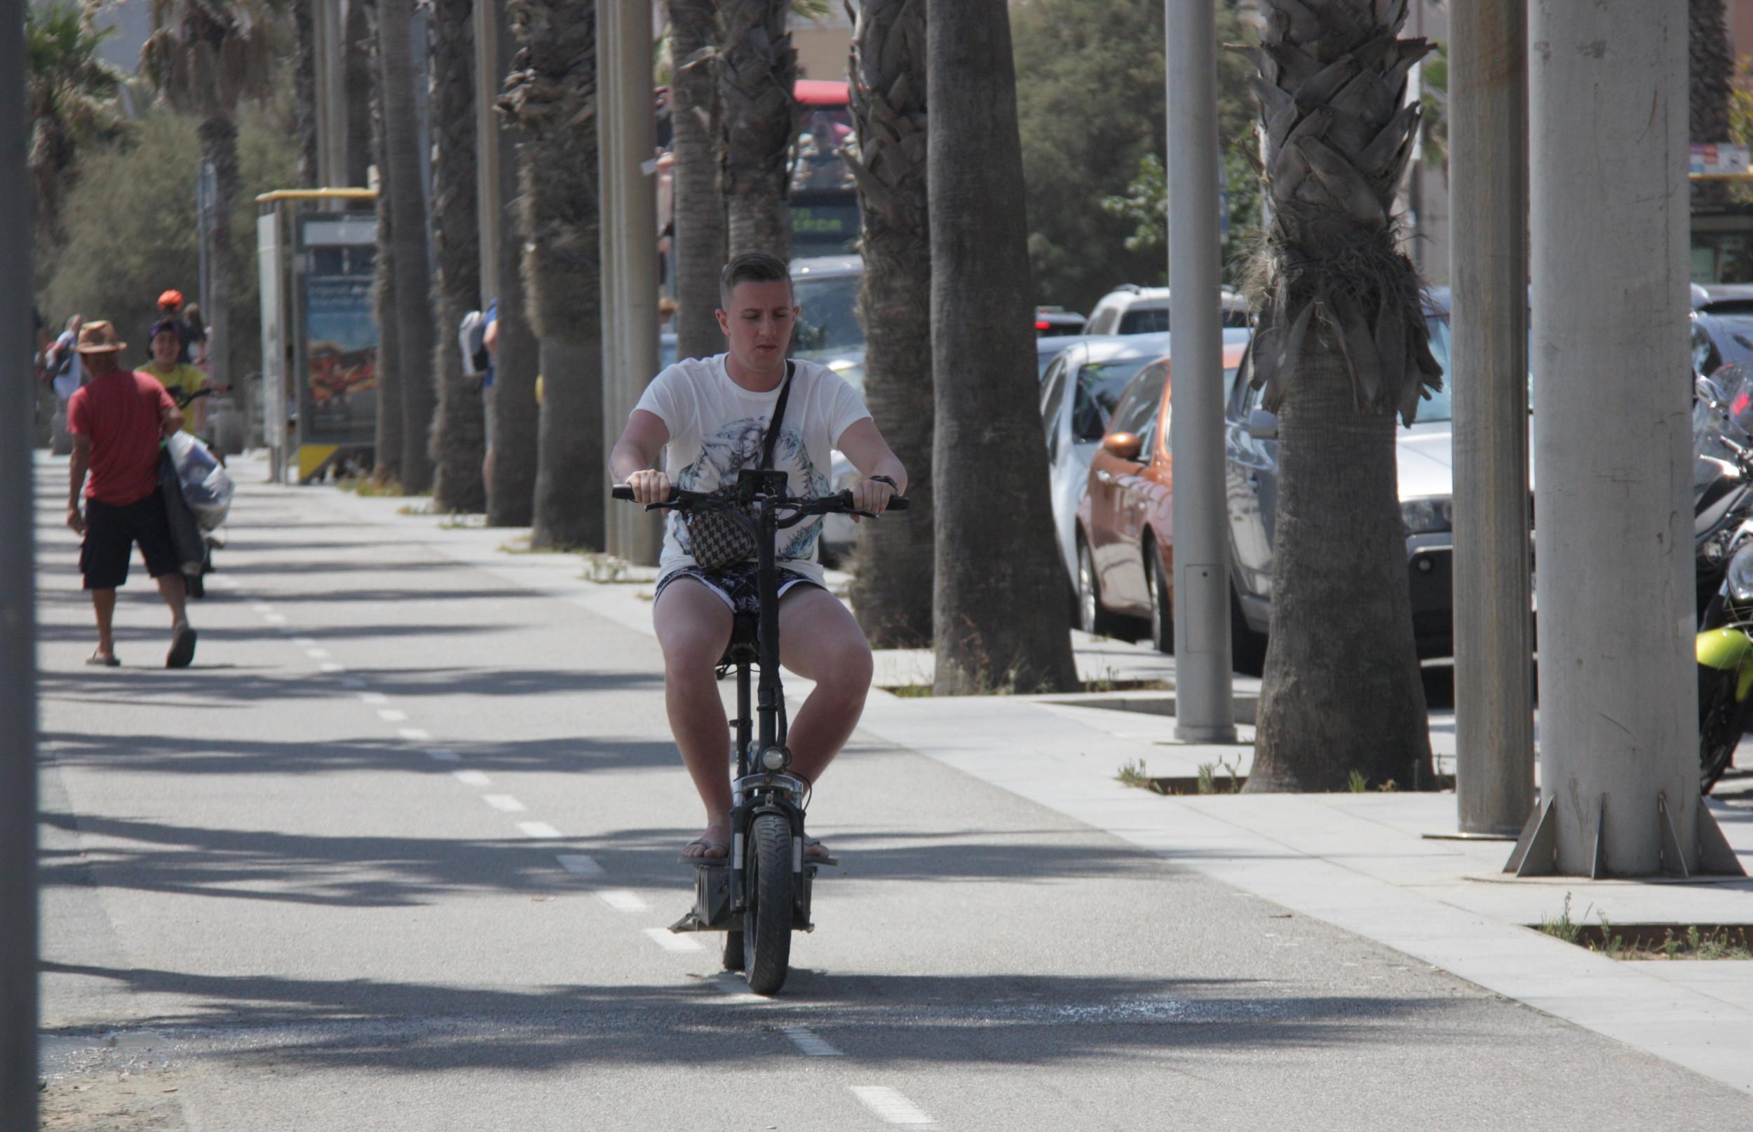
[{"label": "scooter rider's bare leg on the left side of the picture", "polygon": [[706,806],[699,838],[720,846],[691,846],[685,855],[724,857],[731,838],[729,720],[713,669],[731,643],[731,608],[699,580],[677,578],[657,599],[652,626],[663,647],[670,731]]}]

